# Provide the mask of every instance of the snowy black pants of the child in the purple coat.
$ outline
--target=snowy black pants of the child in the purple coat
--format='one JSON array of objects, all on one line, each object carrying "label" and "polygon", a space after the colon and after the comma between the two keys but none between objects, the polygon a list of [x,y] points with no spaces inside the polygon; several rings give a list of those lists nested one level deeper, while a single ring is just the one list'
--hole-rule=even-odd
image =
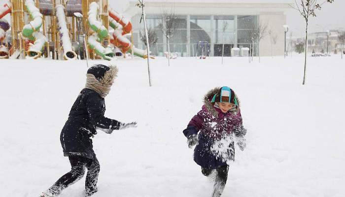
[{"label": "snowy black pants of the child in the purple coat", "polygon": [[216,171],[216,177],[214,180],[212,197],[220,197],[224,191],[226,181],[228,180],[229,165],[223,165],[216,169],[201,168],[201,172],[205,176],[209,176],[213,170]]}]

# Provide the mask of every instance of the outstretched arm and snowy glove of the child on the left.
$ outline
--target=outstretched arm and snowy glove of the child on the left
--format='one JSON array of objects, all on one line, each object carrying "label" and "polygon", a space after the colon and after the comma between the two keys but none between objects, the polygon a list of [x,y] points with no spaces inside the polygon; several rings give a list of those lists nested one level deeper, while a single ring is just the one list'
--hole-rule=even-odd
[{"label": "outstretched arm and snowy glove of the child on the left", "polygon": [[127,129],[130,127],[137,127],[136,122],[132,123],[121,123],[117,120],[113,120],[110,118],[104,117],[104,113],[102,113],[102,102],[100,100],[100,97],[97,95],[89,95],[87,101],[87,112],[89,114],[89,117],[92,121],[92,123],[100,130],[111,133],[113,130],[122,130]]}]

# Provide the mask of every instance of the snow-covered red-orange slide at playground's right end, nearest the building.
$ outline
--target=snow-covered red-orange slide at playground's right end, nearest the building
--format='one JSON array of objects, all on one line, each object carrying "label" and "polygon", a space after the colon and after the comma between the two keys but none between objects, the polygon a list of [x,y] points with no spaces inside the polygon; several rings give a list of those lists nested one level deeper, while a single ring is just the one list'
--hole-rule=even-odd
[{"label": "snow-covered red-orange slide at playground's right end, nearest the building", "polygon": [[[129,39],[124,36],[127,33],[131,33],[131,22],[111,8],[109,9],[109,25],[114,29],[114,33],[112,34],[114,39],[111,39],[110,42],[116,47],[120,48],[122,53],[132,53],[133,48],[134,55],[141,58],[147,58],[147,52],[145,50],[132,46],[132,43],[129,41]],[[150,56],[150,58],[154,59],[152,56]]]}]

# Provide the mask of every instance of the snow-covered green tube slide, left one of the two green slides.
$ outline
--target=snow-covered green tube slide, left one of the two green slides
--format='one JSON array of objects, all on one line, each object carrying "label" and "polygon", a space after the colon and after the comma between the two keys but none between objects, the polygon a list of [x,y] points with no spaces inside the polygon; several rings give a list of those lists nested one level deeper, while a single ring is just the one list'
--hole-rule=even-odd
[{"label": "snow-covered green tube slide, left one of the two green slides", "polygon": [[43,15],[35,6],[34,0],[25,0],[25,7],[33,20],[23,27],[23,36],[29,40],[35,40],[34,44],[29,44],[27,54],[30,57],[37,59],[41,56],[45,43],[48,42],[48,39],[43,35],[43,33],[39,32],[42,26]]}]

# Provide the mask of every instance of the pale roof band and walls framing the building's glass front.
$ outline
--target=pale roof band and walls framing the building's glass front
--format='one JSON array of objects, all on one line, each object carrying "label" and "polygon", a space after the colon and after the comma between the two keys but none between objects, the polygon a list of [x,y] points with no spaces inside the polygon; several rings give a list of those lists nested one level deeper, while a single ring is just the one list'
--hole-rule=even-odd
[{"label": "pale roof band and walls framing the building's glass front", "polygon": [[[171,11],[174,7],[175,14],[178,15],[204,15],[204,16],[215,16],[215,15],[256,15],[259,16],[259,21],[263,24],[268,24],[268,30],[271,29],[273,33],[277,34],[276,45],[273,45],[274,56],[284,55],[284,29],[283,25],[286,24],[285,12],[290,9],[287,3],[162,3],[162,2],[146,2],[145,12],[146,14],[157,14],[160,15],[162,12]],[[134,16],[141,14],[141,9],[135,6],[137,1],[131,1],[130,6],[125,11],[127,15]],[[187,17],[188,18],[188,17]],[[213,21],[212,21],[213,22]],[[236,20],[237,23],[237,20]],[[237,25],[237,24],[235,24]],[[139,29],[140,24],[137,24]],[[211,28],[212,29],[212,28]],[[237,28],[236,28],[237,29]],[[212,31],[213,32],[213,31]],[[210,35],[211,38],[211,54],[213,55],[213,44],[214,35]],[[237,42],[237,34],[235,35]],[[164,43],[165,39],[163,38]],[[271,38],[266,33],[266,36],[260,41],[260,55],[271,56]],[[189,41],[189,42],[188,42]],[[189,45],[190,40],[187,40]],[[236,43],[235,43],[236,44]],[[164,51],[166,46],[164,45]]]}]

